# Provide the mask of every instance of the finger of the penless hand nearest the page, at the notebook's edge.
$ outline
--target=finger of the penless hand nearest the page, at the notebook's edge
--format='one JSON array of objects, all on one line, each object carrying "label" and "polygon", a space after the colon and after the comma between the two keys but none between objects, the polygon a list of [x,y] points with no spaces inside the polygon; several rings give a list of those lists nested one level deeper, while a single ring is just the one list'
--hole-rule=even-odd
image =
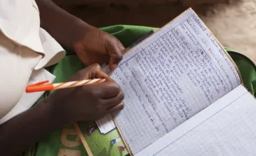
[{"label": "finger of the penless hand nearest the page, at the notebook's edge", "polygon": [[123,57],[122,51],[124,50],[124,46],[120,44],[119,40],[116,40],[115,42],[110,43],[110,48],[107,49],[108,54],[110,55],[109,66],[112,71],[117,68],[118,63]]}]

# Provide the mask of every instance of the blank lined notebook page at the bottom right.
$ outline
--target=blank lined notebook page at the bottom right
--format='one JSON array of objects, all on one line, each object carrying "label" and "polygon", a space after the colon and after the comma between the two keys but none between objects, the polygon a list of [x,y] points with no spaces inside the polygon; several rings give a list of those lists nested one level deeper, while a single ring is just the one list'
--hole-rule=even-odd
[{"label": "blank lined notebook page at the bottom right", "polygon": [[[242,138],[245,137],[243,129],[246,128],[246,126],[242,126],[245,123],[242,123],[244,121],[241,121],[241,119],[243,115],[246,115],[244,119],[249,117],[249,113],[243,111],[243,109],[249,108],[251,109],[250,113],[255,113],[255,102],[253,96],[250,95],[245,87],[240,85],[203,111],[197,113],[190,118],[189,121],[182,123],[170,133],[146,147],[136,156],[170,155],[170,153],[171,155],[175,155],[174,153],[176,153],[176,155],[225,155],[224,151],[220,152],[220,150],[216,148],[219,148],[219,146],[228,147],[234,139],[238,139],[237,134],[232,134],[233,129],[243,131],[240,137],[241,140],[243,140]],[[245,103],[248,104],[248,106],[245,105]],[[237,110],[235,111],[233,107],[236,107]],[[256,115],[253,116],[254,118],[256,117]],[[250,116],[250,118],[253,118],[253,116]],[[253,126],[253,128],[256,128],[256,126]],[[230,132],[229,137],[225,135],[227,131]],[[236,142],[237,141],[234,143]],[[221,145],[222,143],[225,145]],[[243,145],[239,145],[238,147],[241,148],[242,146]],[[206,150],[206,152],[198,151],[199,149]],[[220,153],[211,153],[214,151]]]}]

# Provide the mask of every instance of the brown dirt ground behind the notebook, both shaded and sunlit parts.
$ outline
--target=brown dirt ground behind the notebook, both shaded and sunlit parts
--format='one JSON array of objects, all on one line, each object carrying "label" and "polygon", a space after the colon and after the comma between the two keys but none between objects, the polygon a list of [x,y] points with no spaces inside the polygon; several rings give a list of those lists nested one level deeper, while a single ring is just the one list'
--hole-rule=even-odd
[{"label": "brown dirt ground behind the notebook, both shaded and sunlit parts", "polygon": [[[186,0],[187,5],[174,1],[154,5],[129,6],[112,3],[102,6],[87,4],[62,7],[92,26],[129,24],[161,27],[188,9],[196,0]],[[238,50],[256,63],[256,0],[233,0],[214,5],[197,4],[192,6],[192,9],[198,13],[220,43]]]}]

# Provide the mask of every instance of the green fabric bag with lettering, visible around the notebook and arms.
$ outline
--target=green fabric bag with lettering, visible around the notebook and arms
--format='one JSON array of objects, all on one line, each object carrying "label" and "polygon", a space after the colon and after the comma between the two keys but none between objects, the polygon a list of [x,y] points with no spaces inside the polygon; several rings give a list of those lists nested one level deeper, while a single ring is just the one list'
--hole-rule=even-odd
[{"label": "green fabric bag with lettering, visible around the notebook and arms", "polygon": [[[102,28],[107,33],[111,33],[117,37],[125,47],[128,47],[135,40],[141,38],[146,33],[149,33],[152,28],[144,26],[109,26]],[[226,48],[230,56],[235,61],[236,65],[240,69],[242,80],[245,86],[255,95],[256,91],[256,68],[255,65],[247,57],[240,55],[238,52]],[[75,52],[67,49],[68,54],[66,57],[55,65],[48,69],[57,77],[55,82],[63,82],[71,75],[75,74],[78,70],[84,68]],[[46,96],[46,95],[45,95]],[[75,134],[73,126],[67,126],[55,130],[50,133],[46,138],[41,140],[40,143],[36,143],[30,150],[23,153],[26,156],[77,156],[87,155],[85,148],[80,143],[78,136]]]}]

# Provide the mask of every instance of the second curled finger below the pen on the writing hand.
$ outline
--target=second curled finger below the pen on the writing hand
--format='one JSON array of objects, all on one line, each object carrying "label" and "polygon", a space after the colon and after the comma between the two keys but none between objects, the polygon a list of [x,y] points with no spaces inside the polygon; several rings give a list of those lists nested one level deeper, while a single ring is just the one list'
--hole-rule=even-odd
[{"label": "second curled finger below the pen on the writing hand", "polygon": [[120,104],[123,100],[124,100],[124,92],[120,91],[120,93],[117,96],[103,99],[102,108],[111,108],[113,106],[116,106],[117,104]]}]

